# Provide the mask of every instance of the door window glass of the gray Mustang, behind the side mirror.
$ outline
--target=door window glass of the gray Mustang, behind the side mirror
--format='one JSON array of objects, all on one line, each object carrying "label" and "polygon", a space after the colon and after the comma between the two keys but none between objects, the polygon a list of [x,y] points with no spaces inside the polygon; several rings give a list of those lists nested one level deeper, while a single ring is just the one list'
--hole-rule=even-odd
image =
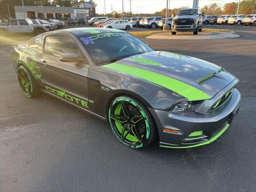
[{"label": "door window glass of the gray Mustang, behind the side mirror", "polygon": [[67,36],[48,36],[45,40],[45,54],[59,57],[62,54],[79,54],[74,40]]}]

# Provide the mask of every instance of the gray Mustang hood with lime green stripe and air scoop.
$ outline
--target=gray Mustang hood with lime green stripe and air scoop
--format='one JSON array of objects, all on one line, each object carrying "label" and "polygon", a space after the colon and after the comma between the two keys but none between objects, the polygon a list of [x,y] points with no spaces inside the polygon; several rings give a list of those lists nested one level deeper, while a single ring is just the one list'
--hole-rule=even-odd
[{"label": "gray Mustang hood with lime green stripe and air scoop", "polygon": [[210,99],[236,79],[210,62],[161,51],[131,56],[104,67],[164,86],[188,100]]}]

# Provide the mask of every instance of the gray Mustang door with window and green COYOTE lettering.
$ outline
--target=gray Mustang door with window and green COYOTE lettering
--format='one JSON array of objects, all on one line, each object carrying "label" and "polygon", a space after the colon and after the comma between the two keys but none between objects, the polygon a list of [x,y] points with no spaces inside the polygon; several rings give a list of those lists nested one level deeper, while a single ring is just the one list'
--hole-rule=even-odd
[{"label": "gray Mustang door with window and green COYOTE lettering", "polygon": [[[78,54],[81,62],[60,61],[62,54]],[[88,108],[89,64],[73,38],[48,35],[40,58],[44,90],[82,108]]]}]

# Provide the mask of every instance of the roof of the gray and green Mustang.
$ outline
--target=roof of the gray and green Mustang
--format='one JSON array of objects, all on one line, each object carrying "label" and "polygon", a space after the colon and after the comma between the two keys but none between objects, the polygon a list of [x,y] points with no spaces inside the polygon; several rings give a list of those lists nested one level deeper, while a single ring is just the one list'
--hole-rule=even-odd
[{"label": "roof of the gray and green Mustang", "polygon": [[[109,28],[92,28],[92,27],[84,27],[84,28],[68,28],[68,29],[62,29],[62,30],[57,30],[57,31],[50,31],[50,32],[46,32],[47,34],[74,34],[76,36],[81,36],[81,35],[88,35],[88,34],[99,34],[99,33],[127,33],[125,31],[122,30],[118,30],[118,29],[109,29]],[[44,33],[44,34],[46,34]]]}]

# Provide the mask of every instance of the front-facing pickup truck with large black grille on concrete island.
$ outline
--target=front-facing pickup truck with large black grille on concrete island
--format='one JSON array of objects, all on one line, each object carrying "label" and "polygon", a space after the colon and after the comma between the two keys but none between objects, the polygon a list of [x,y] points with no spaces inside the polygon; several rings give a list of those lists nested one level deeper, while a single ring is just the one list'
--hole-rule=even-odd
[{"label": "front-facing pickup truck with large black grille on concrete island", "polygon": [[198,8],[181,9],[172,20],[172,35],[176,32],[193,32],[197,35],[203,28],[204,12]]}]

